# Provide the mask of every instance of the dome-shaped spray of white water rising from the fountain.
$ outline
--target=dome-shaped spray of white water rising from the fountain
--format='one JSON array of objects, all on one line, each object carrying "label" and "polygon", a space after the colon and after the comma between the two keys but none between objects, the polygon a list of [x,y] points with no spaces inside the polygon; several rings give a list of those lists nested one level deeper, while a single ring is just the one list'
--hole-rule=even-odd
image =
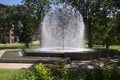
[{"label": "dome-shaped spray of white water rising from the fountain", "polygon": [[84,22],[75,8],[63,4],[49,11],[41,26],[42,48],[84,48]]}]

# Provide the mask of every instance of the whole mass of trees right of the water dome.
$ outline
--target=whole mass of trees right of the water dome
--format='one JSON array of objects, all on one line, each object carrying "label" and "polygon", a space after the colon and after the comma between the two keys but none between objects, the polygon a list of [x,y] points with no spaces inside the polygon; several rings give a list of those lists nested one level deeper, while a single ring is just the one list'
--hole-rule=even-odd
[{"label": "whole mass of trees right of the water dome", "polygon": [[[118,1],[114,0],[59,0],[66,2],[83,15],[88,31],[88,47],[92,43],[105,43],[106,48],[116,40],[114,14],[119,10]],[[110,15],[110,16],[109,16]]]}]

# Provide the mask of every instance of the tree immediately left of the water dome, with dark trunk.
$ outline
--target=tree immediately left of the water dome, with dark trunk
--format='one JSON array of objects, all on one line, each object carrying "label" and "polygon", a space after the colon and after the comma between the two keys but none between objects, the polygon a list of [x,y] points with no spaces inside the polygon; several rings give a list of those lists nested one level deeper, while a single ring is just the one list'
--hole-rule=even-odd
[{"label": "tree immediately left of the water dome, with dark trunk", "polygon": [[31,41],[31,32],[35,33],[36,29],[38,29],[38,26],[48,9],[49,0],[23,0],[23,4],[25,8],[24,12],[26,13],[24,20],[21,20],[24,27],[23,34],[26,33],[23,41],[26,44],[26,47],[28,47],[28,44]]}]

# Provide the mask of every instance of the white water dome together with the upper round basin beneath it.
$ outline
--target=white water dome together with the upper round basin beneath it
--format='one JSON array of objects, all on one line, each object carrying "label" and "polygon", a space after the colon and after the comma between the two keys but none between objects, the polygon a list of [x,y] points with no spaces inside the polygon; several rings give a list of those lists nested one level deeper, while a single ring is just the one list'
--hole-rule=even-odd
[{"label": "white water dome together with the upper round basin beneath it", "polygon": [[84,48],[84,31],[80,12],[70,5],[62,4],[49,11],[43,19],[40,26],[41,47],[24,50],[25,55],[73,57],[93,52],[92,49]]}]

